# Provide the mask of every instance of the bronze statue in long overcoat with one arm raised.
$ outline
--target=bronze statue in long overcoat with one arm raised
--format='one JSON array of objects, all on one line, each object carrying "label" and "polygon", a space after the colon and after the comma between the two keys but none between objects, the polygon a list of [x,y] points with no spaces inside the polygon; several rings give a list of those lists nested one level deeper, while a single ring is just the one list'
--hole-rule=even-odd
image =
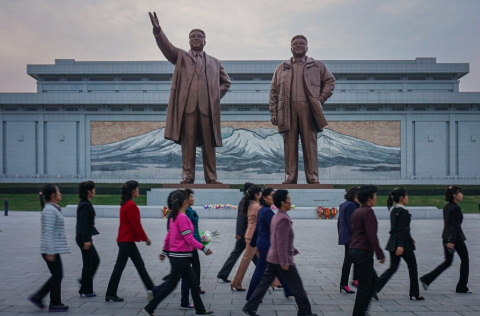
[{"label": "bronze statue in long overcoat with one arm raised", "polygon": [[203,51],[205,32],[190,32],[190,50],[170,43],[157,14],[149,12],[153,35],[165,58],[175,65],[168,101],[165,138],[182,146],[182,181],[195,181],[196,147],[202,148],[205,182],[217,181],[215,147],[222,147],[220,99],[231,85],[220,61]]}]

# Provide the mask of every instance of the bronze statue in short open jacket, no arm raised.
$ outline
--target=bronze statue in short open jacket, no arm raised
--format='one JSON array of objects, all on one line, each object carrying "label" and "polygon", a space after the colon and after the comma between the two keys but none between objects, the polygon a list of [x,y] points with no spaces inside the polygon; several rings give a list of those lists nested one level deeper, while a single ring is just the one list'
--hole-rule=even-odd
[{"label": "bronze statue in short open jacket, no arm raised", "polygon": [[307,183],[318,184],[317,133],[327,125],[322,105],[333,94],[335,78],[323,62],[306,56],[305,36],[294,36],[291,45],[293,57],[277,66],[270,88],[272,124],[283,134],[283,183],[297,183],[300,135]]}]

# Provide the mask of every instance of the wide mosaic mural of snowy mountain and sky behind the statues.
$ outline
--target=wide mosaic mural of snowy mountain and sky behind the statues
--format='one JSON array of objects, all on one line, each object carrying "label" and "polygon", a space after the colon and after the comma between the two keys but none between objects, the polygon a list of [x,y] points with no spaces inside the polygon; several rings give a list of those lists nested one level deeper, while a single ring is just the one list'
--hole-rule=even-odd
[{"label": "wide mosaic mural of snowy mountain and sky behind the statues", "polygon": [[[92,176],[155,178],[165,182],[181,179],[180,146],[163,137],[164,122],[91,124]],[[222,122],[223,147],[217,148],[218,179],[226,183],[283,180],[283,138],[272,127],[269,122]],[[196,177],[201,182],[199,148],[196,164]],[[318,164],[321,179],[399,178],[400,122],[331,122],[318,134]],[[302,158],[299,169],[304,170]],[[299,174],[302,179],[303,172]]]}]

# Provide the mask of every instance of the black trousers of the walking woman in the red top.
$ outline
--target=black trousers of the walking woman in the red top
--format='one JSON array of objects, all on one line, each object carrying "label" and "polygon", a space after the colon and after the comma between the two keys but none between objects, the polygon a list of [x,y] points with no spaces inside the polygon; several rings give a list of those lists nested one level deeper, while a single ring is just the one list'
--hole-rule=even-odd
[{"label": "black trousers of the walking woman in the red top", "polygon": [[138,251],[137,245],[134,242],[117,242],[118,244],[118,256],[115,267],[113,268],[110,281],[108,282],[107,296],[117,296],[118,284],[122,278],[123,270],[127,265],[128,258],[130,258],[137,269],[140,278],[147,290],[153,289],[153,282],[148,275],[147,269],[145,269],[145,263],[143,262],[142,255]]}]

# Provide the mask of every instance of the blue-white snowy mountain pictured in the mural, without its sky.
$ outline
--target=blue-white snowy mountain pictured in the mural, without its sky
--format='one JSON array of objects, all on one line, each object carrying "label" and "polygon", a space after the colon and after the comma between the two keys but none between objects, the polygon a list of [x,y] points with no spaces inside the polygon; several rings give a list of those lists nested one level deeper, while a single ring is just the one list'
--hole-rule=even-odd
[{"label": "blue-white snowy mountain pictured in the mural, without its sky", "polygon": [[[284,172],[283,138],[275,129],[222,128],[223,147],[217,148],[220,173],[277,174]],[[92,172],[143,168],[181,168],[180,146],[164,138],[164,128],[118,142],[91,146]],[[303,169],[299,142],[299,169]],[[356,167],[357,171],[400,170],[400,148],[387,147],[329,129],[318,134],[319,168]],[[197,169],[201,169],[200,148]],[[349,168],[352,170],[352,168]]]}]

